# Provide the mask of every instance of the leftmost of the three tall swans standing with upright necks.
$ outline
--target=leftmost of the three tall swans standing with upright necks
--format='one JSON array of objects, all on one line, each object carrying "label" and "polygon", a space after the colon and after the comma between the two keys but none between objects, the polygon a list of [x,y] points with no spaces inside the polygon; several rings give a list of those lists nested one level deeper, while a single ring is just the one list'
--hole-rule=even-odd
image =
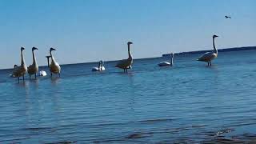
[{"label": "leftmost of the three tall swans standing with upright necks", "polygon": [[14,72],[13,72],[14,77],[18,78],[18,82],[19,82],[19,77],[23,77],[23,82],[24,82],[24,75],[26,74],[26,71],[27,71],[26,63],[23,57],[23,50],[25,50],[25,48],[21,47],[21,55],[22,55],[21,66],[15,66]]}]

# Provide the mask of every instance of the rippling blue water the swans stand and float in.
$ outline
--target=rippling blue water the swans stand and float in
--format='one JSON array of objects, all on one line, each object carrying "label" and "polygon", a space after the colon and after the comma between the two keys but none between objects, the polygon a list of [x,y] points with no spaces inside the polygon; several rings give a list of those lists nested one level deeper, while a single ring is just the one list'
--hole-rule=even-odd
[{"label": "rippling blue water the swans stand and float in", "polygon": [[197,57],[135,60],[128,74],[67,65],[24,83],[0,70],[0,143],[255,142],[256,51],[220,53],[211,67]]}]

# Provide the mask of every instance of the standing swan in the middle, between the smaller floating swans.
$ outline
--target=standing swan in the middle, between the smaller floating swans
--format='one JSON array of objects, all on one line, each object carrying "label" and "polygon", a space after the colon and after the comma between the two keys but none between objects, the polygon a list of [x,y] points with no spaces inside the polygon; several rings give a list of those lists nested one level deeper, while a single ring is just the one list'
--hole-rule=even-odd
[{"label": "standing swan in the middle, between the smaller floating swans", "polygon": [[127,69],[131,68],[131,65],[133,64],[133,57],[130,54],[130,45],[133,44],[133,42],[127,42],[128,45],[128,55],[129,57],[127,59],[123,59],[115,67],[118,67],[120,69],[123,69],[124,72],[127,73]]}]

